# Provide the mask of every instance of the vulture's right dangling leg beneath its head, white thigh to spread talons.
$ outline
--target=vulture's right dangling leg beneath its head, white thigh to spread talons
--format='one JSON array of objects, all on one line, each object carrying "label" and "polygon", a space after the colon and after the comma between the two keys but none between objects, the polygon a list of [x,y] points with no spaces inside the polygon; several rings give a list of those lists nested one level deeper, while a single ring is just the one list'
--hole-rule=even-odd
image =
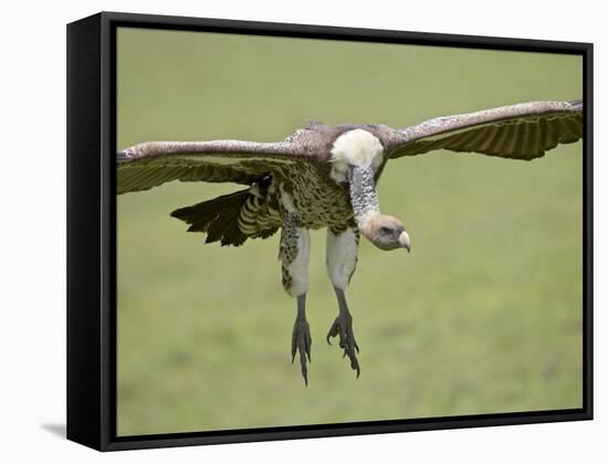
[{"label": "vulture's right dangling leg beneath its head, white thigh to spread talons", "polygon": [[348,226],[342,231],[327,229],[327,273],[336,292],[339,313],[332,324],[326,339],[332,345],[329,338],[339,337],[339,347],[344,349],[343,356],[348,356],[350,367],[357,371],[357,377],[360,373],[357,360],[359,347],[355,340],[353,316],[348,310],[344,292],[357,265],[358,244],[359,232],[355,228]]}]

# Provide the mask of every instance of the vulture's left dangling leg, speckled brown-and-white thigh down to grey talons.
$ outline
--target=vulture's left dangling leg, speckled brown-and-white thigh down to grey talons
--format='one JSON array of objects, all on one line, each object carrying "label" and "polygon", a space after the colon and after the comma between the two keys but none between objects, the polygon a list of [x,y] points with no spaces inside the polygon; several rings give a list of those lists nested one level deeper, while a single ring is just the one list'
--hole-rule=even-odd
[{"label": "vulture's left dangling leg, speckled brown-and-white thigh down to grey talons", "polygon": [[297,316],[292,333],[292,363],[296,351],[300,354],[300,365],[304,383],[308,384],[306,357],[311,361],[311,328],[306,320],[306,289],[308,288],[308,255],[311,236],[306,229],[300,226],[300,219],[295,212],[283,214],[281,229],[280,256],[282,262],[283,288],[296,298]]}]

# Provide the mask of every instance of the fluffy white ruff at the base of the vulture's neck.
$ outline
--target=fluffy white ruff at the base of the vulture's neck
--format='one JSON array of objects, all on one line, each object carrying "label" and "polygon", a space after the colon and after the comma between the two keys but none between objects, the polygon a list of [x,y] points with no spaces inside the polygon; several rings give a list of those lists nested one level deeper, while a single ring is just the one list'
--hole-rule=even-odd
[{"label": "fluffy white ruff at the base of the vulture's neck", "polygon": [[374,172],[384,161],[380,140],[364,129],[354,129],[340,135],[332,148],[332,172],[336,182],[348,180],[348,166],[371,166]]}]

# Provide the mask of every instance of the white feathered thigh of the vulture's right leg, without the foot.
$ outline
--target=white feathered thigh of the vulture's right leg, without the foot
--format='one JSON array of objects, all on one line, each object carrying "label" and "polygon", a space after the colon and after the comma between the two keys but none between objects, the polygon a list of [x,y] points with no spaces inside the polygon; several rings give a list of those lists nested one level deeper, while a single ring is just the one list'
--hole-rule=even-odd
[{"label": "white feathered thigh of the vulture's right leg, without the foot", "polygon": [[327,229],[327,274],[334,287],[346,289],[348,281],[357,265],[357,238],[353,229],[346,229],[339,235],[334,235]]}]

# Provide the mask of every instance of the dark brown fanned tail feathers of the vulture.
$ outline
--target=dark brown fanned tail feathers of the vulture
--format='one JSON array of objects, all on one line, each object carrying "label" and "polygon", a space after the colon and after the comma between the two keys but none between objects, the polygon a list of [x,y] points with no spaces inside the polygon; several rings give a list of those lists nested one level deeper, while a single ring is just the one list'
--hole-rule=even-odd
[{"label": "dark brown fanned tail feathers of the vulture", "polygon": [[171,212],[171,217],[190,224],[188,232],[206,232],[206,243],[239,246],[248,239],[239,229],[239,214],[250,194],[249,189],[224,194]]}]

